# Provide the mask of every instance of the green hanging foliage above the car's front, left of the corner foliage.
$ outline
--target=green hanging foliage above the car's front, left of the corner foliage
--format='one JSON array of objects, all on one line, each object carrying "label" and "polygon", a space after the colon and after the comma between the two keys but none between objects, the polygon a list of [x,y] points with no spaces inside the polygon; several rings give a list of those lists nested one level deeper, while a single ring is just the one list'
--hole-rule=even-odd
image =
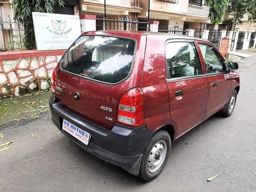
[{"label": "green hanging foliage above the car's front, left of the corner foliage", "polygon": [[209,17],[212,24],[220,24],[225,16],[228,0],[205,0],[209,6]]}]

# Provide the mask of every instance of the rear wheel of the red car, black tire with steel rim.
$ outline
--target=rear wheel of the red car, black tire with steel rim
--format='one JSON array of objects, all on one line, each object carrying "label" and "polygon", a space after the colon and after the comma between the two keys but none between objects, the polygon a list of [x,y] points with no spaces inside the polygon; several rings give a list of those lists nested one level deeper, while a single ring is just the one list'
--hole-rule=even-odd
[{"label": "rear wheel of the red car, black tire with steel rim", "polygon": [[140,179],[151,181],[161,173],[168,160],[171,146],[172,142],[168,132],[161,130],[153,135],[142,156],[138,175]]}]

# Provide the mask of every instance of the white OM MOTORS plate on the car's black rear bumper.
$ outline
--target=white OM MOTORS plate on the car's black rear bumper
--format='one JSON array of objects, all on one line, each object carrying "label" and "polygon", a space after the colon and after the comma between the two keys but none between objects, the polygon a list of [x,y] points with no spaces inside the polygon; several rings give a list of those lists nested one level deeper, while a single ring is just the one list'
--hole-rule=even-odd
[{"label": "white OM MOTORS plate on the car's black rear bumper", "polygon": [[65,132],[69,133],[73,137],[77,138],[79,141],[82,143],[88,145],[90,139],[91,139],[91,134],[83,131],[76,125],[73,125],[71,122],[63,119],[63,124],[62,124],[62,130]]}]

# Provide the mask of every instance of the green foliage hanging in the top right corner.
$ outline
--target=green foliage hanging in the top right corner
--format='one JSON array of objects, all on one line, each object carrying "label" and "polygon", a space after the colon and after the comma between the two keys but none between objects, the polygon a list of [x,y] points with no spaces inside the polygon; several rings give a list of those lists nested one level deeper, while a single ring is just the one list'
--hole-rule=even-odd
[{"label": "green foliage hanging in the top right corner", "polygon": [[248,13],[249,20],[256,20],[256,0],[229,0],[228,11],[233,13],[233,22],[238,23]]}]

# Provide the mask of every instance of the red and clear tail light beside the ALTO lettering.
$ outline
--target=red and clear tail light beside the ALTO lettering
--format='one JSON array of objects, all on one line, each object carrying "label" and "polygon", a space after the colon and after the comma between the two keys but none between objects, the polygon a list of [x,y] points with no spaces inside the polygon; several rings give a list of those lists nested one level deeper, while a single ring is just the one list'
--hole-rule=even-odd
[{"label": "red and clear tail light beside the ALTO lettering", "polygon": [[140,88],[125,92],[118,102],[117,122],[133,127],[145,124],[144,98]]}]

